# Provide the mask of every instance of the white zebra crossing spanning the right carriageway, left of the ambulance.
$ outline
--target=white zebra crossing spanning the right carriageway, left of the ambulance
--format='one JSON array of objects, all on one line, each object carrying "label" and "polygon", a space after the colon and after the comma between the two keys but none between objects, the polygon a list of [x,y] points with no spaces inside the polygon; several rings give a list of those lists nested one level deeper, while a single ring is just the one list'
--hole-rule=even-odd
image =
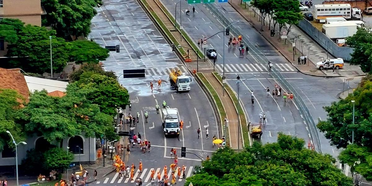
[{"label": "white zebra crossing spanning the right carriageway, left of the ambulance", "polygon": [[[224,65],[216,64],[216,67],[222,72]],[[244,63],[244,64],[225,64],[225,72],[268,72],[267,64]],[[295,72],[296,70],[287,63],[273,63],[273,68],[282,72]]]}]

